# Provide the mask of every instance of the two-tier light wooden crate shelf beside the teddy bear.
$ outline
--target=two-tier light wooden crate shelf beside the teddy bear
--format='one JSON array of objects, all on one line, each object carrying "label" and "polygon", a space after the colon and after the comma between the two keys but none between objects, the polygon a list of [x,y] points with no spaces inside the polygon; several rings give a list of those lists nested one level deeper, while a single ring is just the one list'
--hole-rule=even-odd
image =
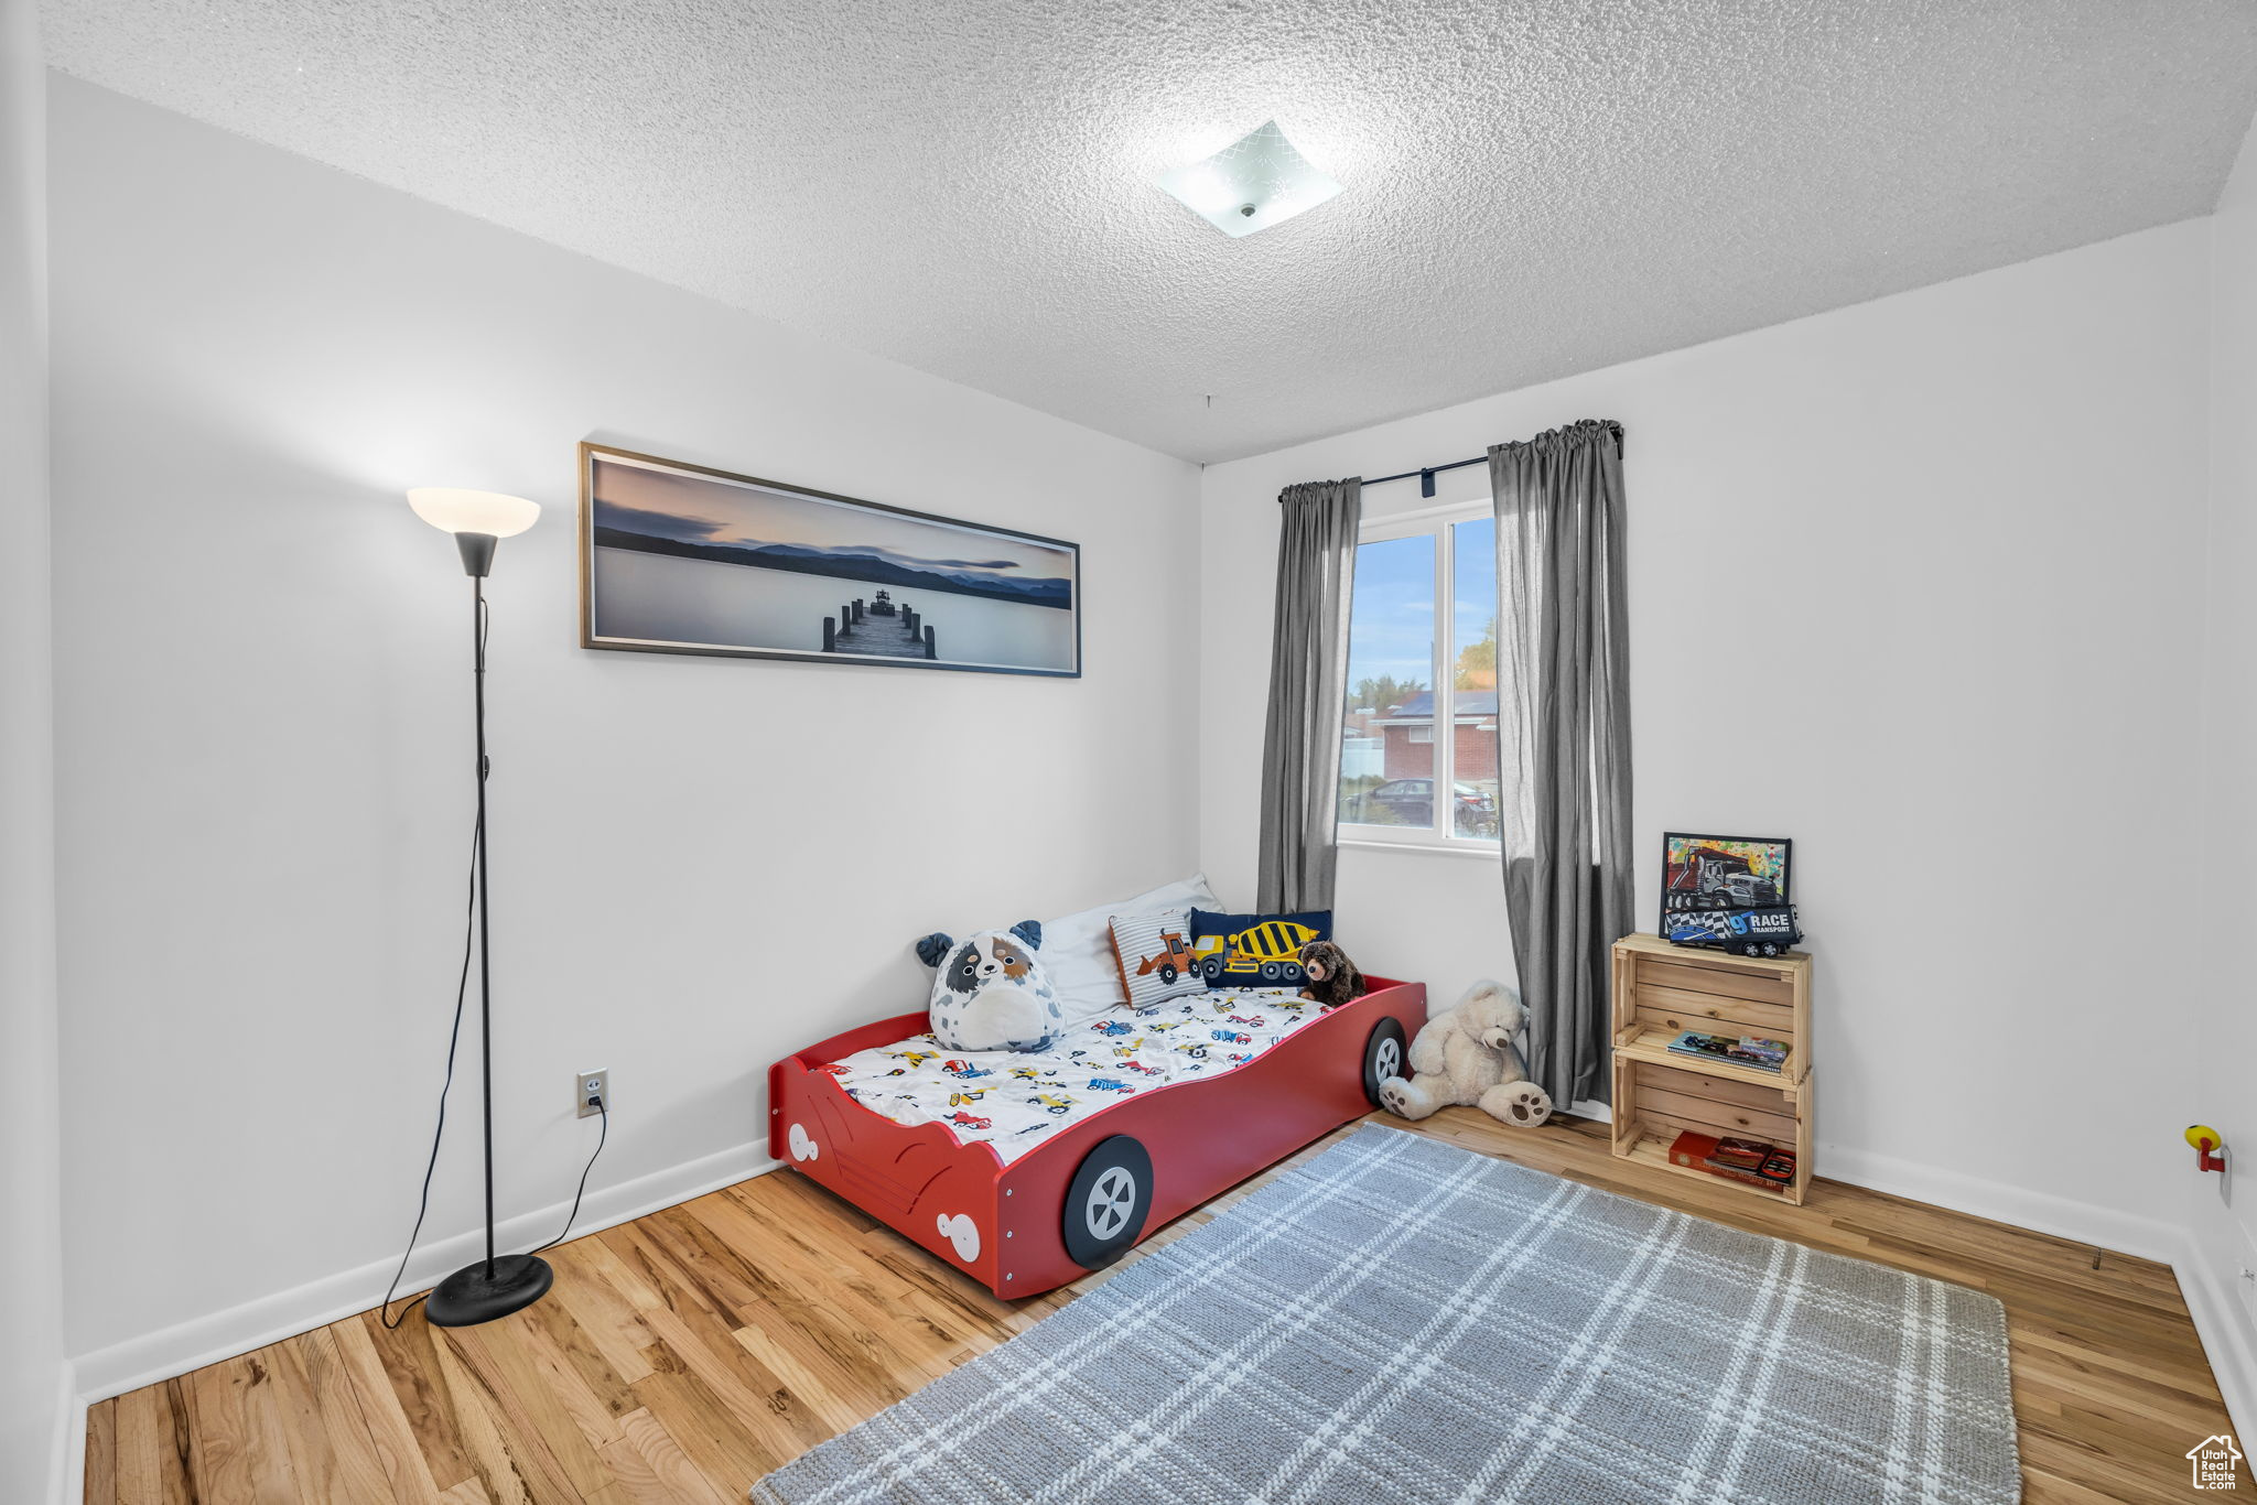
[{"label": "two-tier light wooden crate shelf beside the teddy bear", "polygon": [[[1779,1072],[1670,1054],[1686,1029],[1788,1042]],[[1769,1189],[1670,1164],[1681,1130],[1794,1146],[1794,1185]],[[1729,957],[1659,936],[1614,943],[1614,1153],[1749,1196],[1810,1191],[1810,957]]]}]

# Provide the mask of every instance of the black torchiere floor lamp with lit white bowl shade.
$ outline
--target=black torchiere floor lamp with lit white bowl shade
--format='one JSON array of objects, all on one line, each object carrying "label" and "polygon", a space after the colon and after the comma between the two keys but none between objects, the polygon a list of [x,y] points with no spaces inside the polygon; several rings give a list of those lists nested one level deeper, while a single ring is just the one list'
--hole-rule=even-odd
[{"label": "black torchiere floor lamp with lit white bowl shade", "polygon": [[478,722],[478,826],[472,882],[478,900],[478,1070],[485,1076],[485,1259],[467,1264],[424,1300],[424,1315],[438,1327],[474,1327],[521,1311],[548,1293],[555,1275],[539,1255],[494,1255],[494,972],[485,932],[485,575],[494,566],[494,544],[530,528],[542,508],[524,496],[415,487],[415,517],[454,535],[469,575],[469,652]]}]

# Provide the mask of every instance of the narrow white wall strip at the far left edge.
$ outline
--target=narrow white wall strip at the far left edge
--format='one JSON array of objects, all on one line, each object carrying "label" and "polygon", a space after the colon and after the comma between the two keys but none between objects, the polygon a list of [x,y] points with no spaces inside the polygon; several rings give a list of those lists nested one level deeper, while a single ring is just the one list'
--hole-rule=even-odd
[{"label": "narrow white wall strip at the far left edge", "polygon": [[0,1500],[65,1476],[38,7],[0,0]]}]

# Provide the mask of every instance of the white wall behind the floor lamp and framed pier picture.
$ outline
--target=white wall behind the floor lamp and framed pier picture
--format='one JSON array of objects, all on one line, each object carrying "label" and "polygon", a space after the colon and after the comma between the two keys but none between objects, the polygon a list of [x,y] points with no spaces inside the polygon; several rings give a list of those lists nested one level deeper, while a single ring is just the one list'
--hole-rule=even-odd
[{"label": "white wall behind the floor lamp and framed pier picture", "polygon": [[[1189,738],[1153,709],[1196,645],[1194,467],[52,88],[90,1390],[368,1306],[406,1234],[472,794],[469,584],[411,483],[546,505],[490,584],[506,1216],[546,1234],[594,1144],[573,1072],[614,1074],[598,1214],[679,1200],[763,1164],[770,1060],[923,1004],[912,936],[1189,871]],[[1088,672],[585,652],[580,438],[1074,539]],[[476,1218],[456,1112],[438,1234]]]}]

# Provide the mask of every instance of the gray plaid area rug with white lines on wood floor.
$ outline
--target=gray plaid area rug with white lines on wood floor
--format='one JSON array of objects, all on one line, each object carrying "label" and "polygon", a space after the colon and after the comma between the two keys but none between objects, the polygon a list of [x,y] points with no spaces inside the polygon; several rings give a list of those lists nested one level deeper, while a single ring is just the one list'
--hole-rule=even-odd
[{"label": "gray plaid area rug with white lines on wood floor", "polygon": [[761,1505],[2022,1494],[1986,1295],[1368,1126]]}]

